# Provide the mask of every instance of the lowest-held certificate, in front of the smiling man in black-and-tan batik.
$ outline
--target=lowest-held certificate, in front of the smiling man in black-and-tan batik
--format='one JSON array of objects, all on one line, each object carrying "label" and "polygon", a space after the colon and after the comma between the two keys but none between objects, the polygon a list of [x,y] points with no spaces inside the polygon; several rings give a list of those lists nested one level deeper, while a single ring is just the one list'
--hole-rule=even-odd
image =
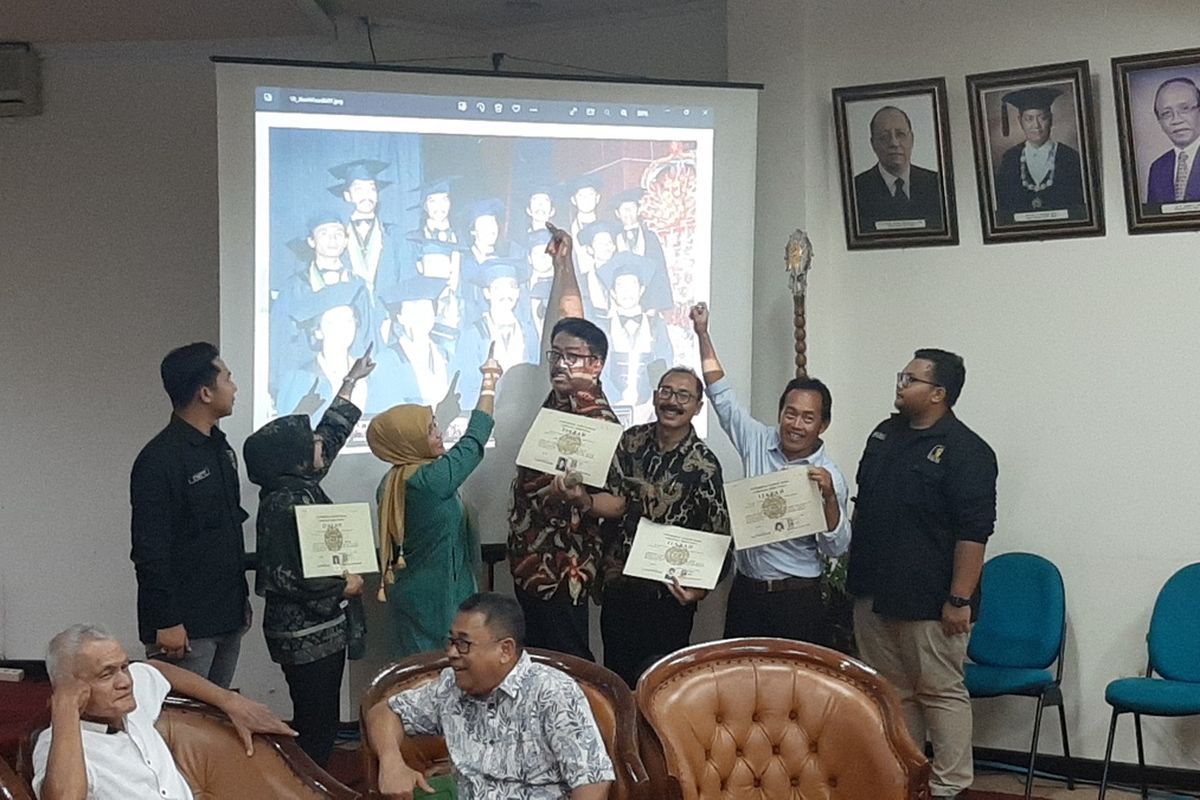
[{"label": "lowest-held certificate, in front of the smiling man in black-and-tan batik", "polygon": [[671,582],[680,587],[712,589],[721,577],[730,537],[662,525],[649,519],[637,523],[634,545],[625,559],[624,575],[649,581]]}]

